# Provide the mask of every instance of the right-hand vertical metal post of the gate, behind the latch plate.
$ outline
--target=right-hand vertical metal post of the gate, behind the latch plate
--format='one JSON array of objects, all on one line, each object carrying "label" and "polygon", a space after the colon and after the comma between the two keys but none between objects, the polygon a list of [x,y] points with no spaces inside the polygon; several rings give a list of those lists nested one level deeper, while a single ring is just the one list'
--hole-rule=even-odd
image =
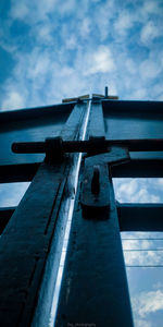
[{"label": "right-hand vertical metal post of the gate, behind the latch plate", "polygon": [[[101,137],[104,136],[104,124],[102,107],[100,104],[98,106],[100,106],[99,111],[97,105],[91,106],[92,121],[90,121],[89,135],[92,133],[96,135],[97,126],[97,134]],[[99,132],[98,125],[101,124],[103,130]],[[108,196],[111,199],[108,219],[105,216],[102,217],[102,213],[98,220],[91,214],[87,219],[83,216],[78,187],[57,327],[133,326],[113,185],[111,175],[108,178],[110,184]]]}]

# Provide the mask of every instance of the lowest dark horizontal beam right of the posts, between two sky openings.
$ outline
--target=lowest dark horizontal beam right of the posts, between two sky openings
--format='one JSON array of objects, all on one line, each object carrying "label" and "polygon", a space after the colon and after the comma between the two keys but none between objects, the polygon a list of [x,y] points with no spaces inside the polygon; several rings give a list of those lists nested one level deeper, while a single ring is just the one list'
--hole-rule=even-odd
[{"label": "lowest dark horizontal beam right of the posts, between two sky openings", "polygon": [[163,204],[117,204],[121,231],[163,231]]}]

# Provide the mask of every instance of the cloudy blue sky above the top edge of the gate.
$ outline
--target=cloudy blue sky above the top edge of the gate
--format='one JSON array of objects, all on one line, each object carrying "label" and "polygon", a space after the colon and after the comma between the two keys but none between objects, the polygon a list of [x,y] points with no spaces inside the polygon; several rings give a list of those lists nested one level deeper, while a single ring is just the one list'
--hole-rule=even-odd
[{"label": "cloudy blue sky above the top edge of the gate", "polygon": [[1,0],[0,108],[103,92],[163,99],[163,2]]}]

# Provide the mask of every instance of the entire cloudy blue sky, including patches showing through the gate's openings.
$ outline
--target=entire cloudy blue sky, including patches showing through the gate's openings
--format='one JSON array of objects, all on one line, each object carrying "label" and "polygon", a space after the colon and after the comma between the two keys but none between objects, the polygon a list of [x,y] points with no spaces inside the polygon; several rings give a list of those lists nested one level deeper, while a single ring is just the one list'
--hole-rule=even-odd
[{"label": "entire cloudy blue sky, including patches showing through the gate's openings", "polygon": [[[0,110],[103,93],[105,85],[120,99],[163,100],[162,0],[1,0],[0,17]],[[162,179],[114,185],[120,202],[163,202]],[[9,198],[9,187],[0,190],[3,206],[15,205],[25,190],[14,185],[17,198]],[[162,234],[139,238],[123,241],[126,265],[162,265]],[[127,274],[136,327],[162,327],[163,268]]]}]

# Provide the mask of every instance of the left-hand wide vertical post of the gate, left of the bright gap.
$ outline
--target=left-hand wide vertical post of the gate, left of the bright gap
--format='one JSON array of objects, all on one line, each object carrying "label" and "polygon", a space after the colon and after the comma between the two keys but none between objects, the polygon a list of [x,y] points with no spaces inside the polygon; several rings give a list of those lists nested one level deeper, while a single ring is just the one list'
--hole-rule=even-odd
[{"label": "left-hand wide vertical post of the gate, left of the bright gap", "polygon": [[[80,109],[79,120],[85,106]],[[78,121],[74,120],[74,113],[72,113],[72,120],[71,123],[70,117],[67,121],[72,130],[70,131],[65,125],[62,135],[74,140],[77,133],[76,124],[78,124]],[[2,267],[0,269],[0,322],[2,326],[25,327],[32,324],[62,196],[64,192],[67,192],[65,185],[71,165],[72,160],[68,157],[62,164],[43,162],[40,165],[0,238],[0,265]],[[63,233],[64,226],[62,225],[61,230]],[[60,253],[57,253],[57,265],[59,265]],[[55,277],[53,276],[53,281]]]}]

